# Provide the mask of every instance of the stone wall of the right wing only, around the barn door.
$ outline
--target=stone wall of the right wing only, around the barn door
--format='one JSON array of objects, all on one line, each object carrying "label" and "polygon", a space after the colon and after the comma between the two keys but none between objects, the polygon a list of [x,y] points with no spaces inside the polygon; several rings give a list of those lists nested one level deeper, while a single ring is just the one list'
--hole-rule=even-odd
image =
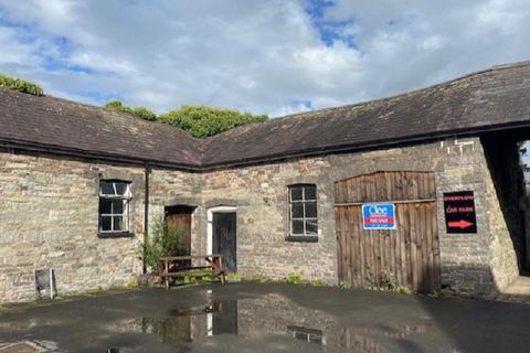
[{"label": "stone wall of the right wing only, around the barn door", "polygon": [[[237,266],[243,275],[282,279],[296,272],[336,284],[333,182],[401,170],[435,173],[444,287],[486,295],[517,276],[513,246],[478,138],[205,173],[202,204],[218,200],[212,204],[237,206]],[[294,183],[317,184],[318,243],[285,239],[289,229],[287,186]],[[446,233],[443,193],[462,190],[475,191],[478,234]],[[205,232],[197,236],[204,237]]]}]

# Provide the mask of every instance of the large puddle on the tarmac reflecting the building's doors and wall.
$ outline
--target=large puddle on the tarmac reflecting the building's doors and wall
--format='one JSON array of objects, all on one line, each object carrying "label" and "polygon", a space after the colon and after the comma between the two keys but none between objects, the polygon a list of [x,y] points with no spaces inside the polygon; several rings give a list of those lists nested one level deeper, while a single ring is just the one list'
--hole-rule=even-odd
[{"label": "large puddle on the tarmac reflecting the building's doors and wall", "polygon": [[[288,298],[268,295],[257,299],[213,300],[198,307],[174,308],[161,318],[142,318],[116,322],[114,330],[159,336],[179,352],[195,344],[215,344],[221,336],[239,335],[272,342],[278,338],[293,340],[294,345],[318,347],[319,351],[406,352],[396,346],[411,347],[411,336],[428,331],[424,324],[380,322],[342,322],[320,310],[297,306]],[[212,343],[213,342],[213,343]],[[109,351],[118,352],[118,351]]]}]

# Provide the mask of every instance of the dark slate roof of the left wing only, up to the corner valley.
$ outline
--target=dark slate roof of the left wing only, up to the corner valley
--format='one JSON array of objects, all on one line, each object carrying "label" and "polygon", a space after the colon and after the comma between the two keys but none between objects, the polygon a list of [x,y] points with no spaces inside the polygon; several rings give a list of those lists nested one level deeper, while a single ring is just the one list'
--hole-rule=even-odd
[{"label": "dark slate roof of the left wing only, up to the corner valley", "polygon": [[197,167],[199,141],[172,126],[65,99],[0,88],[0,141]]}]

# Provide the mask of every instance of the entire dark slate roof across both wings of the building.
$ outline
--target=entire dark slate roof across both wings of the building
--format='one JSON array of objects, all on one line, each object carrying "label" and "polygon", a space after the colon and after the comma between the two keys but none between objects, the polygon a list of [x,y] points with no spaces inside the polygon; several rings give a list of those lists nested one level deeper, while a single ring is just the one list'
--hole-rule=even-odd
[{"label": "entire dark slate roof across both wings of the building", "polygon": [[272,119],[198,140],[160,122],[0,88],[6,142],[206,169],[530,125],[530,62],[398,96]]}]

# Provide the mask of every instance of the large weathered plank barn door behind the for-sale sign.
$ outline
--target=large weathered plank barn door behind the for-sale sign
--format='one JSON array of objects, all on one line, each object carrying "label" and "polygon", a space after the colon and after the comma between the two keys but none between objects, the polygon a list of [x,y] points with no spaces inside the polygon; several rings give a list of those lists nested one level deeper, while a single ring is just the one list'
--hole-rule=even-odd
[{"label": "large weathered plank barn door behind the for-sale sign", "polygon": [[[431,172],[377,172],[336,182],[339,280],[354,287],[439,289],[436,188]],[[395,229],[363,228],[362,204],[394,203]]]}]

